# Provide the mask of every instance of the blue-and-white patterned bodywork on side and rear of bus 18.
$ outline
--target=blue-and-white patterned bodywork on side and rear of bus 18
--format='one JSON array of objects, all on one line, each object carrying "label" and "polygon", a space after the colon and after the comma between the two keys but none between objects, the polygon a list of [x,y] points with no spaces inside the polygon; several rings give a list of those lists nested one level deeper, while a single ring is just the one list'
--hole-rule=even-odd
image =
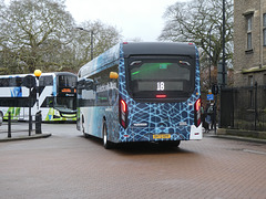
[{"label": "blue-and-white patterned bodywork on side and rear of bus 18", "polygon": [[[125,52],[124,45],[126,44],[116,44],[81,67],[78,88],[84,88],[78,91],[80,93],[78,94],[80,104],[78,128],[85,135],[90,134],[104,138],[103,124],[105,124],[108,140],[113,143],[202,139],[202,125],[195,124],[195,118],[198,118],[198,114],[197,116],[195,114],[195,104],[201,97],[200,63],[196,46],[190,44],[190,48],[186,48],[186,51],[190,50],[192,54],[194,53],[191,57],[196,59],[193,61],[195,65],[192,66],[194,70],[192,70],[193,78],[195,80],[193,80],[194,88],[190,96],[182,101],[163,102],[155,100],[143,102],[136,101],[129,93],[127,60],[131,52],[129,52],[129,49]],[[147,49],[145,43],[141,45]],[[160,48],[161,43],[155,45]],[[171,43],[170,45],[172,49],[178,48],[178,44]],[[163,50],[165,50],[165,46],[167,44],[164,44]],[[180,51],[183,46],[184,44],[180,46]],[[136,52],[135,49],[134,52]],[[176,54],[176,56],[184,57],[186,56],[185,52]],[[175,54],[172,52],[173,55]],[[106,82],[108,72],[115,67],[117,69],[117,80]],[[93,84],[91,90],[85,87],[90,81]],[[126,104],[126,126],[123,126],[120,121],[120,100],[123,100]],[[167,137],[156,135],[167,135]]]}]

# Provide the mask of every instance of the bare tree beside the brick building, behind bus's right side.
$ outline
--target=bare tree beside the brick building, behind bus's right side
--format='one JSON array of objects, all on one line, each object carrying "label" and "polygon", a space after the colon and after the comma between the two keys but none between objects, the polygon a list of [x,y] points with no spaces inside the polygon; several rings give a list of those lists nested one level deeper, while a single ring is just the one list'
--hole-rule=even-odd
[{"label": "bare tree beside the brick building, behind bus's right side", "polygon": [[[233,0],[226,0],[226,61],[233,57]],[[223,3],[221,0],[176,2],[167,8],[161,41],[194,42],[203,50],[203,66],[211,57],[214,66],[222,59]],[[209,51],[211,48],[211,51]],[[205,60],[205,62],[204,62]]]}]

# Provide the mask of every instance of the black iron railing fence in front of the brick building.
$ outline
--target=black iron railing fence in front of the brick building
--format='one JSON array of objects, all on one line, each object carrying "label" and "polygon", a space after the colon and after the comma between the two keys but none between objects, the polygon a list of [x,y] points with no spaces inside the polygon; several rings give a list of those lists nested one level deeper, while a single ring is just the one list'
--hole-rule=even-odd
[{"label": "black iron railing fence in front of the brick building", "polygon": [[221,127],[266,132],[266,86],[222,90]]}]

